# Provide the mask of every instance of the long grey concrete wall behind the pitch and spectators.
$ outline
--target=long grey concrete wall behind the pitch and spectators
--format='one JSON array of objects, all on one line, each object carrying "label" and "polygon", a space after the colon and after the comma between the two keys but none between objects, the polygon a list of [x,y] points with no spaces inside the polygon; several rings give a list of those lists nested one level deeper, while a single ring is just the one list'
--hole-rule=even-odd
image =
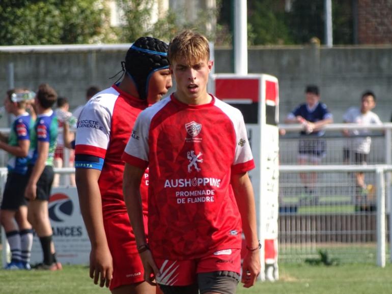
[{"label": "long grey concrete wall behind the pitch and spectators", "polygon": [[[121,70],[126,49],[65,52],[9,52],[0,47],[0,87],[8,89],[9,63],[14,64],[15,86],[37,89],[52,85],[59,95],[70,99],[71,108],[84,103],[90,85],[104,89],[117,80],[109,77]],[[215,48],[215,72],[233,72],[231,49]],[[342,121],[344,111],[359,105],[360,95],[372,90],[377,96],[375,112],[383,121],[392,114],[392,46],[258,47],[248,50],[248,72],[268,73],[279,80],[281,117],[304,101],[308,83],[320,85],[322,101]],[[118,76],[120,77],[120,75]],[[0,121],[4,126],[5,120]]]}]

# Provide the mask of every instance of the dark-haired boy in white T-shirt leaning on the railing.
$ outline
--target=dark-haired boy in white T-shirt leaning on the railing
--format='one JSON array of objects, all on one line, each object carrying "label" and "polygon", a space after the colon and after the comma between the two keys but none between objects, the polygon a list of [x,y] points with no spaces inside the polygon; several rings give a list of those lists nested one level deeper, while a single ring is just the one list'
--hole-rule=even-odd
[{"label": "dark-haired boy in white T-shirt leaning on the railing", "polygon": [[[367,91],[361,96],[361,106],[350,107],[343,115],[344,123],[352,123],[358,125],[370,125],[376,124],[381,125],[381,121],[376,113],[372,109],[376,106],[376,96],[373,92]],[[346,163],[351,162],[351,158],[355,164],[367,164],[368,156],[370,153],[370,145],[372,139],[369,136],[370,131],[366,129],[358,130],[344,130],[343,135],[346,137],[353,137],[347,139],[346,146],[343,149],[343,159]],[[372,188],[371,185],[365,183],[365,173],[355,173],[356,180],[356,200],[358,203],[366,205],[368,192]]]}]

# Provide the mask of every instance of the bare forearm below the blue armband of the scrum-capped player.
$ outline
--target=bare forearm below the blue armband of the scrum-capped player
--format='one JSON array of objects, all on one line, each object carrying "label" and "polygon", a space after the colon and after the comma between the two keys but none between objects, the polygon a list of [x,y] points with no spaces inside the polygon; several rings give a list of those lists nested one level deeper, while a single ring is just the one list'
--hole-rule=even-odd
[{"label": "bare forearm below the blue armband of the scrum-capped player", "polygon": [[80,212],[89,234],[91,246],[107,246],[103,226],[102,200],[97,179],[76,169],[75,180],[79,197]]}]

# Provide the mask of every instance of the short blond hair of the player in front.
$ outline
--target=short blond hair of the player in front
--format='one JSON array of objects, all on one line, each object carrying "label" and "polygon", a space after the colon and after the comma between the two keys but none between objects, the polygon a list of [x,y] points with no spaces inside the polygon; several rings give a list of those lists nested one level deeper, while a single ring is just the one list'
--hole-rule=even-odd
[{"label": "short blond hair of the player in front", "polygon": [[187,63],[205,59],[208,61],[210,60],[208,40],[202,34],[185,30],[170,42],[167,58],[171,64],[179,58],[185,58]]}]

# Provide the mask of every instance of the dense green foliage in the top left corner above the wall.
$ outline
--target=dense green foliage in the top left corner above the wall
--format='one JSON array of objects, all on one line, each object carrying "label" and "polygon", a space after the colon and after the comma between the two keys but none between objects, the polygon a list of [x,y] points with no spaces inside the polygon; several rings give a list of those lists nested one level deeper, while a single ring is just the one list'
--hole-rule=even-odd
[{"label": "dense green foliage in the top left corner above the wall", "polygon": [[80,44],[102,40],[105,15],[107,10],[102,0],[2,0],[0,45]]}]

